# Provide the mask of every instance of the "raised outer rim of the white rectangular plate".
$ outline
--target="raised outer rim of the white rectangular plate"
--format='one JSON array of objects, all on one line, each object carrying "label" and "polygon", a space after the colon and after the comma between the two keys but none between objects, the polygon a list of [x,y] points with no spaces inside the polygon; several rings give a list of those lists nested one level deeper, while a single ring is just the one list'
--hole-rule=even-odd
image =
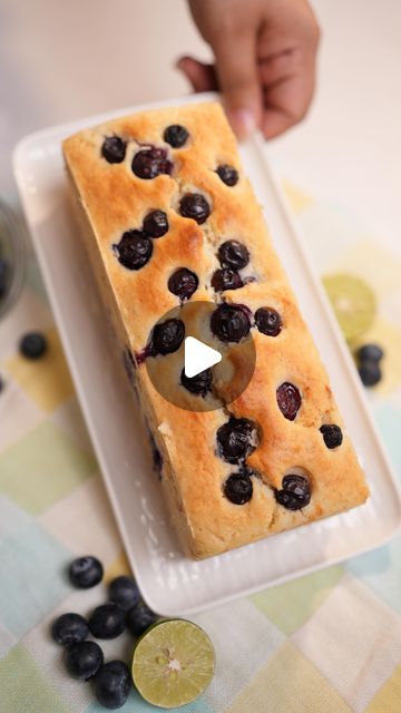
[{"label": "raised outer rim of the white rectangular plate", "polygon": [[[60,338],[61,338],[61,342],[62,342],[62,348],[63,351],[66,353],[66,358],[68,361],[68,367],[69,370],[71,372],[71,377],[75,383],[75,389],[76,389],[76,393],[77,393],[77,398],[79,400],[79,406],[82,410],[84,413],[84,418],[86,421],[86,427],[88,429],[88,432],[90,434],[90,439],[94,446],[94,451],[96,455],[96,458],[98,460],[99,463],[99,470],[101,473],[101,478],[102,478],[102,482],[105,485],[108,498],[110,500],[115,517],[116,517],[116,521],[120,531],[120,536],[126,549],[126,554],[128,556],[129,563],[133,567],[133,569],[135,570],[135,577],[138,580],[138,584],[140,586],[140,583],[143,582],[141,578],[141,574],[140,574],[140,567],[134,567],[134,561],[133,561],[133,550],[135,548],[131,547],[131,545],[129,545],[129,536],[128,533],[126,531],[126,526],[125,526],[125,521],[124,521],[124,517],[121,517],[121,512],[120,512],[120,508],[118,505],[118,499],[116,497],[116,492],[115,492],[115,488],[113,488],[113,484],[111,480],[108,477],[105,477],[105,469],[106,465],[104,462],[104,456],[102,456],[102,451],[101,448],[98,447],[98,437],[96,434],[96,428],[95,424],[91,421],[90,418],[90,408],[89,404],[87,403],[86,399],[82,397],[81,394],[81,387],[80,387],[80,375],[79,375],[79,371],[75,364],[75,360],[74,360],[74,350],[71,349],[70,344],[69,344],[69,339],[68,339],[68,334],[65,333],[65,326],[63,326],[63,320],[61,314],[59,313],[59,309],[57,306],[57,303],[53,299],[53,291],[52,287],[49,289],[49,277],[48,277],[48,266],[46,263],[46,260],[43,257],[42,251],[40,248],[40,236],[37,232],[37,228],[35,227],[35,224],[32,224],[31,217],[30,217],[30,208],[28,206],[28,196],[27,196],[27,187],[26,187],[26,178],[22,177],[23,170],[22,170],[22,164],[25,160],[25,156],[27,154],[27,152],[29,150],[29,148],[35,144],[35,143],[41,143],[41,141],[46,141],[49,140],[49,138],[53,135],[68,135],[69,133],[72,134],[74,131],[78,131],[80,129],[82,129],[86,126],[91,126],[91,125],[96,125],[96,124],[101,124],[102,121],[107,121],[111,118],[115,117],[119,117],[119,116],[124,116],[124,115],[128,115],[135,111],[141,111],[141,110],[151,110],[151,109],[157,109],[157,108],[162,108],[162,107],[170,107],[170,106],[182,106],[184,104],[197,104],[197,102],[202,102],[202,101],[211,101],[211,100],[218,100],[218,95],[216,92],[204,92],[204,94],[199,94],[199,95],[193,95],[193,96],[185,96],[185,97],[178,97],[175,99],[164,99],[162,101],[154,101],[154,102],[147,102],[144,105],[138,105],[138,106],[134,106],[134,107],[125,107],[123,109],[116,109],[113,111],[106,111],[106,113],[101,113],[101,114],[97,114],[94,116],[89,116],[89,117],[82,117],[81,119],[75,119],[71,121],[67,121],[67,123],[61,123],[61,124],[57,124],[57,125],[52,125],[49,126],[47,128],[42,128],[39,129],[37,131],[32,131],[28,135],[26,135],[25,137],[22,137],[17,145],[14,146],[13,153],[12,153],[12,168],[13,168],[13,174],[14,174],[14,178],[16,178],[16,183],[17,183],[17,187],[18,187],[18,193],[19,193],[19,197],[23,207],[23,213],[25,213],[25,217],[26,217],[26,222],[28,225],[28,229],[30,235],[32,236],[32,244],[35,246],[35,252],[36,252],[36,256],[38,258],[38,262],[40,264],[40,268],[41,268],[41,273],[43,276],[43,281],[47,287],[47,292],[48,292],[48,297],[49,297],[49,302],[51,305],[51,310],[55,316],[55,322],[57,324],[57,329],[60,333]],[[385,466],[387,469],[387,482],[390,485],[389,482],[389,478],[391,481],[391,486],[394,490],[394,494],[397,496],[397,505],[398,505],[398,512],[397,512],[397,517],[394,514],[394,525],[393,527],[390,528],[390,530],[385,530],[383,537],[378,537],[374,545],[370,544],[366,547],[353,547],[352,551],[350,551],[349,554],[344,554],[341,555],[339,557],[330,557],[329,560],[324,560],[322,559],[320,563],[317,564],[313,564],[311,566],[303,566],[300,569],[293,570],[291,573],[286,573],[282,576],[277,576],[274,579],[271,579],[266,583],[264,583],[263,585],[261,584],[256,584],[253,585],[251,587],[242,587],[238,590],[235,590],[231,594],[226,594],[226,595],[222,595],[219,596],[217,599],[209,599],[207,602],[204,602],[200,605],[194,605],[194,606],[187,606],[184,611],[183,607],[179,607],[179,613],[180,614],[195,614],[198,613],[199,611],[206,611],[208,608],[213,608],[215,606],[219,606],[223,604],[226,604],[228,602],[232,602],[238,597],[247,597],[247,596],[252,596],[253,594],[255,594],[256,592],[261,592],[263,589],[273,587],[273,586],[280,586],[281,584],[284,584],[285,582],[290,582],[293,579],[296,579],[299,577],[304,577],[307,576],[314,572],[319,572],[320,569],[323,569],[325,567],[329,566],[334,566],[338,565],[342,561],[345,561],[350,558],[360,556],[360,555],[364,555],[369,551],[372,551],[373,549],[383,546],[385,543],[388,543],[389,540],[392,539],[392,537],[400,530],[401,528],[401,485],[399,482],[399,479],[393,470],[393,466],[391,463],[391,460],[388,456],[387,449],[382,442],[382,438],[379,433],[378,427],[373,420],[373,414],[371,412],[371,409],[369,407],[369,402],[366,399],[366,394],[364,393],[364,390],[362,388],[362,384],[360,383],[360,380],[358,379],[358,373],[355,369],[351,369],[352,365],[352,358],[351,354],[346,348],[345,341],[342,338],[340,328],[335,321],[334,314],[330,307],[329,304],[329,299],[323,290],[323,285],[321,284],[317,274],[314,270],[314,267],[312,266],[311,263],[311,258],[307,255],[307,252],[304,247],[303,241],[300,238],[300,226],[295,223],[295,219],[290,211],[290,206],[287,204],[287,199],[285,197],[284,191],[281,187],[278,180],[276,179],[274,172],[272,170],[272,167],[268,163],[268,160],[266,160],[265,157],[265,146],[264,146],[264,140],[262,139],[261,136],[255,136],[252,140],[254,140],[261,152],[262,155],[262,159],[264,163],[264,167],[268,174],[268,178],[271,180],[273,191],[275,192],[275,197],[276,197],[276,202],[280,205],[280,209],[282,211],[283,214],[283,218],[285,219],[288,229],[292,233],[292,240],[294,241],[296,248],[299,250],[300,254],[301,254],[301,258],[305,265],[305,268],[307,270],[307,279],[312,281],[313,283],[313,289],[316,291],[319,297],[320,297],[320,302],[321,305],[323,307],[324,311],[324,315],[327,319],[329,323],[330,323],[330,331],[333,334],[333,339],[335,339],[336,342],[336,346],[340,349],[340,352],[342,354],[342,358],[344,360],[344,364],[346,367],[346,370],[349,372],[349,377],[352,379],[353,382],[353,387],[356,390],[358,397],[359,397],[359,406],[362,408],[363,410],[363,418],[366,419],[368,424],[372,431],[372,433],[374,434],[374,440],[375,440],[375,447],[379,449],[379,455]],[[312,332],[312,336],[313,332]],[[325,364],[325,368],[327,369],[327,365]],[[329,369],[327,369],[329,372]],[[330,372],[329,372],[329,377],[330,377]],[[335,517],[335,516],[333,516]],[[307,527],[307,525],[302,526],[302,527]],[[274,536],[272,536],[274,537]],[[243,547],[247,547],[247,545],[244,545]],[[146,600],[148,602],[148,604],[150,606],[153,606],[156,611],[159,609],[159,605],[156,605],[153,603],[153,595],[148,596],[149,593],[146,592],[146,585],[143,587],[143,590],[146,593]],[[177,615],[178,612],[177,609],[169,608],[168,606],[165,608],[165,615]]]}]

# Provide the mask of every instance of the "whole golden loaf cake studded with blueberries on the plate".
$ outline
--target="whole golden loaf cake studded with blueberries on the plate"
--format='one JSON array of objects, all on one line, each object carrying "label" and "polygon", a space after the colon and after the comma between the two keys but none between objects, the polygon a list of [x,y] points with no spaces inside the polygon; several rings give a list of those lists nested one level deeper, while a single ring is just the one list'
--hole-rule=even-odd
[{"label": "whole golden loaf cake studded with blueberries on the plate", "polygon": [[[363,472],[221,106],[115,119],[68,138],[63,154],[185,551],[208,557],[364,502]],[[216,349],[252,334],[253,377],[231,402],[213,372],[186,379],[168,361],[185,339],[179,310],[194,301],[211,304]],[[178,316],[159,323],[174,307]],[[147,360],[187,408],[158,393]]]}]

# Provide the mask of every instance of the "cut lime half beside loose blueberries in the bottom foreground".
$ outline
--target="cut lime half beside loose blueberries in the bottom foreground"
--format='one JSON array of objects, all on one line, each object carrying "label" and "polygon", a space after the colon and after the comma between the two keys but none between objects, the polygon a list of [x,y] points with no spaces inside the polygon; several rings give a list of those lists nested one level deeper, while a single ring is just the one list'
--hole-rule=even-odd
[{"label": "cut lime half beside loose blueberries in the bottom foreground", "polygon": [[139,638],[133,678],[153,705],[175,709],[197,699],[213,678],[215,655],[205,632],[185,619],[167,619]]}]

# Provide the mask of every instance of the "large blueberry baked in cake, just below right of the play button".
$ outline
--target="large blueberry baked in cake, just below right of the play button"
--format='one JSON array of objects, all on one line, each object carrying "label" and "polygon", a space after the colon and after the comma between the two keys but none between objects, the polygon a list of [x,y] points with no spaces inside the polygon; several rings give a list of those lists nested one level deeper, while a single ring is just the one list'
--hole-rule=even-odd
[{"label": "large blueberry baked in cake, just below right of the play button", "polygon": [[258,445],[256,423],[250,419],[232,417],[217,430],[217,445],[219,455],[227,462],[244,461]]}]

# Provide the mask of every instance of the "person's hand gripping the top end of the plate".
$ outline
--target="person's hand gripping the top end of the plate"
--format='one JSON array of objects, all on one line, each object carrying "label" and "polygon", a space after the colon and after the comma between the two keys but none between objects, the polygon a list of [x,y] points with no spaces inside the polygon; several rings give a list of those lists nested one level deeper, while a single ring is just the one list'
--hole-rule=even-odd
[{"label": "person's hand gripping the top end of the plate", "polygon": [[238,138],[278,136],[305,116],[320,30],[306,0],[188,0],[215,65],[183,57],[195,91],[219,89]]}]

